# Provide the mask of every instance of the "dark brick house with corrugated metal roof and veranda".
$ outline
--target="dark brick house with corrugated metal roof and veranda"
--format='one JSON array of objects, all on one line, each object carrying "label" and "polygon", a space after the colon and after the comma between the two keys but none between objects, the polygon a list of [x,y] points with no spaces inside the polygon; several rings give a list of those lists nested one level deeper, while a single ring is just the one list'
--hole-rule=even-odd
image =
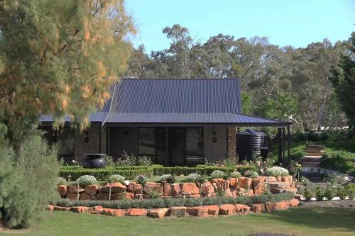
[{"label": "dark brick house with corrugated metal roof and veranda", "polygon": [[127,152],[165,166],[236,157],[240,126],[278,127],[282,159],[282,137],[285,128],[290,130],[288,122],[243,115],[239,79],[122,79],[89,121],[83,133],[69,126],[55,132],[50,116],[43,116],[41,128],[50,142],[58,142],[66,159],[88,152],[117,158]]}]

